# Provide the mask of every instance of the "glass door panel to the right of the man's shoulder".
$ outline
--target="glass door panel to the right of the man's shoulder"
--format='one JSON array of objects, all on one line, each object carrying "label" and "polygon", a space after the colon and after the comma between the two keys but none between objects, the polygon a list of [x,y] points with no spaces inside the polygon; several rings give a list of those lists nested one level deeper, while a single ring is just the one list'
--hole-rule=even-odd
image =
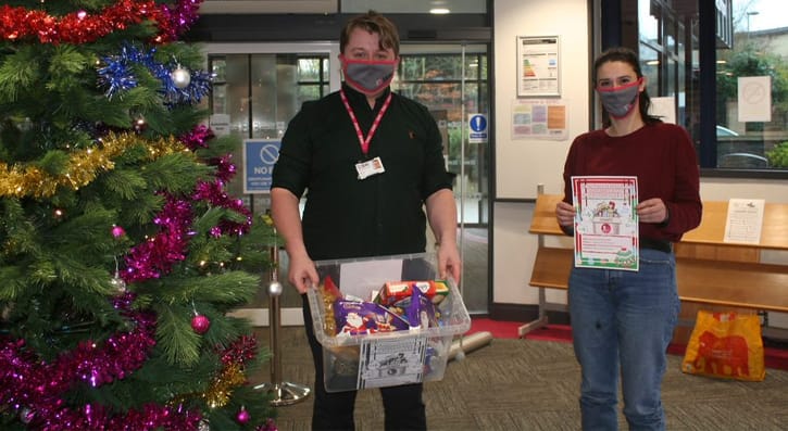
[{"label": "glass door panel to the right of the man's shoulder", "polygon": [[[471,313],[487,313],[489,300],[489,135],[471,139],[472,118],[489,124],[486,45],[401,47],[395,88],[433,113],[443,134],[447,166],[456,175],[459,245],[464,262],[461,288]],[[479,119],[480,118],[480,119]]]}]

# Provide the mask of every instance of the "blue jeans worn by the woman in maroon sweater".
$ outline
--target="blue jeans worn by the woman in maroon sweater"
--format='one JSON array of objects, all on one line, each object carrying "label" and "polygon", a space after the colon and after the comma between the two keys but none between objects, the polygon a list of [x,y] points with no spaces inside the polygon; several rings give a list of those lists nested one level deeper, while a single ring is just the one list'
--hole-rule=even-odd
[{"label": "blue jeans worn by the woman in maroon sweater", "polygon": [[662,378],[678,318],[676,259],[640,250],[638,271],[573,268],[570,315],[583,430],[616,430],[618,376],[630,430],[664,430]]}]

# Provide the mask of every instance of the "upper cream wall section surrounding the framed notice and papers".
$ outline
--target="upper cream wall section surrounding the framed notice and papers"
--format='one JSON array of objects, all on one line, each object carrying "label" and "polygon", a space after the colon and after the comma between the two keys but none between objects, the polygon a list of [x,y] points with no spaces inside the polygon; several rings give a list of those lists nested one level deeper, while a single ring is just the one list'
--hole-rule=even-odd
[{"label": "upper cream wall section surrounding the framed notice and papers", "polygon": [[[563,187],[561,172],[566,150],[573,137],[588,130],[590,54],[586,3],[586,0],[495,2],[498,199],[535,198],[539,182],[548,190]],[[567,106],[568,119],[568,134],[563,141],[512,139],[511,112],[517,93],[517,36],[559,36],[560,98]]]}]

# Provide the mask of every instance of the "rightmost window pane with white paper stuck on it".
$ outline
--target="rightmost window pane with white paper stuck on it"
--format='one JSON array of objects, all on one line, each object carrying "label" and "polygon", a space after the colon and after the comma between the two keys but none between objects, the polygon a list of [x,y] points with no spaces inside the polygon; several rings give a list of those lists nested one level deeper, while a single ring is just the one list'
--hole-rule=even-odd
[{"label": "rightmost window pane with white paper stuck on it", "polygon": [[776,2],[733,0],[716,52],[720,168],[788,169],[788,27]]}]

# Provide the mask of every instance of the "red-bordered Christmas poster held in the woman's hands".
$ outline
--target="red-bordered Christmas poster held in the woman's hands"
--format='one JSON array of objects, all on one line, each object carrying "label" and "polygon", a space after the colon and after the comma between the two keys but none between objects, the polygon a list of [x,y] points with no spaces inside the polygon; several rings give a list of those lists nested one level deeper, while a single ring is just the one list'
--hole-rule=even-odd
[{"label": "red-bordered Christmas poster held in the woman's hands", "polygon": [[638,270],[637,177],[572,177],[575,266]]}]

